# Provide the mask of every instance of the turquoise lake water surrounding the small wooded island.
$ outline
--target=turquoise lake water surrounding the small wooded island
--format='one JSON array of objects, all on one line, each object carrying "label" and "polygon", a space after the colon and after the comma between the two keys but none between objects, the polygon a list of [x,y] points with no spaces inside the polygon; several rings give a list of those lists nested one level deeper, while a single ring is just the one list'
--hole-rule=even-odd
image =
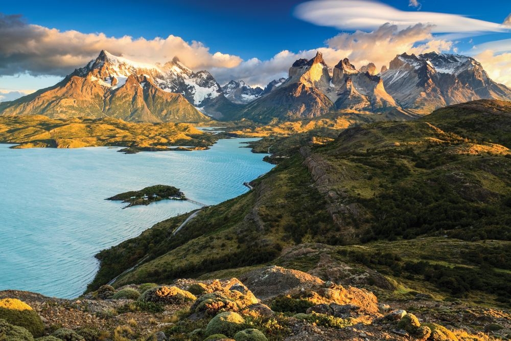
[{"label": "turquoise lake water surrounding the small wooded island", "polygon": [[94,255],[138,236],[158,221],[199,208],[163,200],[122,209],[112,195],[151,185],[180,188],[216,204],[248,191],[268,172],[242,142],[210,150],[123,154],[107,147],[9,149],[0,144],[0,290],[78,297],[98,270]]}]

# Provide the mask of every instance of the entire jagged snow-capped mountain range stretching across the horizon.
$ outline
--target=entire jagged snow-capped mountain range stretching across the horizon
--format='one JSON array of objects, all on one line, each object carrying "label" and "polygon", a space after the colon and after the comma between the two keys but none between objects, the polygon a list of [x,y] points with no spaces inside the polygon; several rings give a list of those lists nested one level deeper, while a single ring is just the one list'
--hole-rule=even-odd
[{"label": "entire jagged snow-capped mountain range stretching across the horizon", "polygon": [[404,53],[378,72],[374,63],[357,70],[347,58],[330,68],[318,52],[296,60],[287,79],[263,89],[242,80],[221,86],[208,71],[194,72],[177,57],[146,64],[101,51],[58,84],[0,103],[0,115],[268,123],[350,111],[409,119],[478,99],[511,100],[511,89],[491,80],[475,59],[453,54]]}]

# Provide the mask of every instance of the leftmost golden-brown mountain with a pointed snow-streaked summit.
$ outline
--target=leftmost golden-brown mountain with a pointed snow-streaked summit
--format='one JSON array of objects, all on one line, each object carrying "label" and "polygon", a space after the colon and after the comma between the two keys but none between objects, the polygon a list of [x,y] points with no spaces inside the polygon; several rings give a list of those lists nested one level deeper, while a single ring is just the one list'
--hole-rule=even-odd
[{"label": "leftmost golden-brown mountain with a pointed snow-streaked summit", "polygon": [[[172,67],[166,67],[167,74],[171,74]],[[161,75],[158,66],[132,62],[102,51],[96,60],[55,86],[0,103],[0,114],[51,118],[108,116],[145,122],[210,120],[182,95],[162,89],[159,86]]]}]

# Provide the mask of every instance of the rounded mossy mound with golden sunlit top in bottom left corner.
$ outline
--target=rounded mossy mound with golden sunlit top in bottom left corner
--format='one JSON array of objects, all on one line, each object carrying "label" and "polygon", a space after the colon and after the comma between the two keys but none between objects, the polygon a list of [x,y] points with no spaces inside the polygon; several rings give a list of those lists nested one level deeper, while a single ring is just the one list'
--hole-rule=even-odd
[{"label": "rounded mossy mound with golden sunlit top in bottom left corner", "polygon": [[14,326],[24,327],[34,337],[42,336],[44,325],[31,306],[17,299],[0,300],[0,319]]}]

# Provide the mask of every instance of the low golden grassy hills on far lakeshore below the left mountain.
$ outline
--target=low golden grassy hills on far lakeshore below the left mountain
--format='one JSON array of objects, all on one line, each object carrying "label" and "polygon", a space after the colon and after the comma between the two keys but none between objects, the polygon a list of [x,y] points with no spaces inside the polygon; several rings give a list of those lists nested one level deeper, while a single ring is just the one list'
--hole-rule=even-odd
[{"label": "low golden grassy hills on far lakeshore below the left mountain", "polygon": [[113,118],[50,119],[42,115],[0,116],[0,143],[14,148],[129,146],[163,150],[167,146],[207,147],[217,141],[187,123],[132,123]]}]

